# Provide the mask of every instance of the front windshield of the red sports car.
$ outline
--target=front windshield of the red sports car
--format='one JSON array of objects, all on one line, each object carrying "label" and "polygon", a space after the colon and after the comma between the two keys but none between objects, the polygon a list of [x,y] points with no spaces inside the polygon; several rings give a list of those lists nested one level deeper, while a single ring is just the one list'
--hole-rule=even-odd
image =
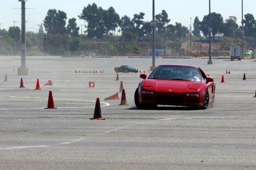
[{"label": "front windshield of the red sports car", "polygon": [[166,79],[166,80],[189,80],[202,82],[200,72],[196,67],[190,66],[158,66],[148,79]]}]

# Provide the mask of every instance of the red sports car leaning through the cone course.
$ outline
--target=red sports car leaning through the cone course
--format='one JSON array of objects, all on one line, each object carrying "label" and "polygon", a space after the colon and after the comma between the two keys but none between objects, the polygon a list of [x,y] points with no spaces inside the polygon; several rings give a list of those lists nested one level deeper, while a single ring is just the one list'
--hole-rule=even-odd
[{"label": "red sports car leaning through the cone course", "polygon": [[180,105],[206,109],[215,96],[215,82],[198,66],[160,65],[139,83],[135,104],[139,109]]}]

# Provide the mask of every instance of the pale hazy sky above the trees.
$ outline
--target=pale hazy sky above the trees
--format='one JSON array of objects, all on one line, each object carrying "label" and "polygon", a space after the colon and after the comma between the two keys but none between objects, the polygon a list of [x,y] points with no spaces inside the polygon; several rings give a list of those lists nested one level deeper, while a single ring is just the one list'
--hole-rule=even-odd
[{"label": "pale hazy sky above the trees", "polygon": [[[21,3],[18,0],[0,0],[0,28],[8,29],[10,26],[21,27]],[[84,24],[83,20],[78,18],[82,13],[83,7],[88,4],[96,3],[99,7],[107,10],[110,6],[114,7],[117,14],[121,16],[127,15],[133,18],[134,14],[139,12],[145,13],[145,21],[152,20],[152,0],[28,0],[26,2],[26,20],[27,31],[36,32],[43,23],[47,11],[56,9],[66,12],[68,19],[77,18],[77,24],[80,27]],[[244,0],[244,15],[253,14],[256,18],[256,1]],[[199,16],[199,20],[209,13],[208,0],[155,0],[155,14],[160,14],[162,10],[166,10],[171,19],[170,24],[180,22],[184,26],[190,26],[190,18],[192,24],[195,16]],[[236,16],[238,24],[242,18],[242,0],[211,0],[211,12],[220,13],[224,20],[229,16]],[[68,23],[67,19],[67,23]]]}]

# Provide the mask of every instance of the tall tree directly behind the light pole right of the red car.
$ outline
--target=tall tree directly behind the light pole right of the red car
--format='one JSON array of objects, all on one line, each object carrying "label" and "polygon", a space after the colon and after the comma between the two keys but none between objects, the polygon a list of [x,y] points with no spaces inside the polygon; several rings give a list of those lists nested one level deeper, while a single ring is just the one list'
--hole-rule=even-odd
[{"label": "tall tree directly behind the light pole right of the red car", "polygon": [[[211,13],[212,16],[212,36],[215,37],[216,33],[220,32],[220,26],[223,24],[223,17],[221,14],[215,12]],[[203,32],[203,35],[207,37],[209,33],[209,14],[204,15],[202,22],[199,26],[200,30]]]}]

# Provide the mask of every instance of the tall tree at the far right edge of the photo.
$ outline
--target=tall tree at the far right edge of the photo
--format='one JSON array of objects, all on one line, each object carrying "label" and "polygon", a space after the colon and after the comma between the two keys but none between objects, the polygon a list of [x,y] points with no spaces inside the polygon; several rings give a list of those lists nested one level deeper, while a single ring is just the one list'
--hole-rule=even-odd
[{"label": "tall tree at the far right edge of the photo", "polygon": [[252,14],[245,15],[244,31],[246,36],[253,36],[256,32],[256,22]]}]

